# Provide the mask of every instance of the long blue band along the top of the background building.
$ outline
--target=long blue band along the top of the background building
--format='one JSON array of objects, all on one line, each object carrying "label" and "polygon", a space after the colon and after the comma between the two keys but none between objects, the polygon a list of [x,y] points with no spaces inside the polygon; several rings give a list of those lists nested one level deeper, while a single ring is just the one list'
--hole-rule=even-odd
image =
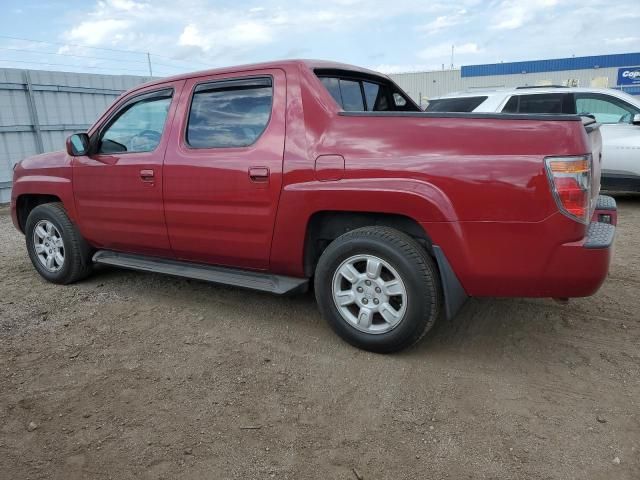
[{"label": "long blue band along the top of the background building", "polygon": [[560,72],[564,70],[590,70],[593,68],[631,67],[640,65],[640,52],[589,57],[555,58],[526,62],[490,63],[467,65],[461,68],[461,76],[484,77],[489,75],[514,75],[519,73]]}]

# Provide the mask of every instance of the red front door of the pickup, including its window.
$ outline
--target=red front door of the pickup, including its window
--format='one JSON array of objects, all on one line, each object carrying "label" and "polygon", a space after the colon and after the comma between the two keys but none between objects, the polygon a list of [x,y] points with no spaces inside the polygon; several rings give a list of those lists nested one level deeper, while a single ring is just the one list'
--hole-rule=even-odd
[{"label": "red front door of the pickup, including its window", "polygon": [[155,85],[122,98],[89,132],[89,155],[73,158],[78,226],[96,247],[172,256],[162,164],[183,84]]}]

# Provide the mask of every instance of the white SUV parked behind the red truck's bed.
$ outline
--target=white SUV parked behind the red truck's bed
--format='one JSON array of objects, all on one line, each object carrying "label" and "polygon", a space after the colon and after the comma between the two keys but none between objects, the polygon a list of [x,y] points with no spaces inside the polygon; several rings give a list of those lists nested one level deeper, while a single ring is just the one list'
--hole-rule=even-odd
[{"label": "white SUV parked behind the red truck's bed", "polygon": [[640,191],[640,99],[603,88],[518,87],[434,98],[428,112],[592,115],[602,135],[602,188]]}]

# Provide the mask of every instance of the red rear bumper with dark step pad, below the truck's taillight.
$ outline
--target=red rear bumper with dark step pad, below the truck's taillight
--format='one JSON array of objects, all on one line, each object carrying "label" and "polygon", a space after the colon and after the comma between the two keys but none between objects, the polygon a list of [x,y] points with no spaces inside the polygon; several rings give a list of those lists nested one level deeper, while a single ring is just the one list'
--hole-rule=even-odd
[{"label": "red rear bumper with dark step pad, below the truck's taillight", "polygon": [[588,227],[560,212],[533,223],[422,226],[470,297],[586,297],[607,278],[616,222],[615,200],[601,196]]}]

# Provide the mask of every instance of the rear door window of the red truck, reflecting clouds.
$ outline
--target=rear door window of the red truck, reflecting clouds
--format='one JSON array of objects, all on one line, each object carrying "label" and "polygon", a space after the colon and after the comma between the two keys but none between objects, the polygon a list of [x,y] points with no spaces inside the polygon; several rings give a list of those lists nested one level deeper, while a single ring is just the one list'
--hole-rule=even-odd
[{"label": "rear door window of the red truck, reflecting clouds", "polygon": [[187,144],[194,148],[246,147],[269,123],[270,77],[201,84],[191,100]]}]

